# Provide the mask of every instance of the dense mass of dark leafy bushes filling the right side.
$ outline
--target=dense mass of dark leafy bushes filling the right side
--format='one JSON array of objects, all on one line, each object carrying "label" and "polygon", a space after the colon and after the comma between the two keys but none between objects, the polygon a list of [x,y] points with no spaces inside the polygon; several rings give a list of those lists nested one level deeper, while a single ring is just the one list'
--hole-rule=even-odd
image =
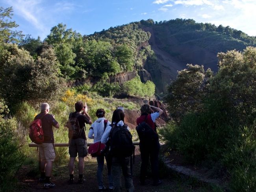
[{"label": "dense mass of dark leafy bushes filling the right side", "polygon": [[[176,148],[191,162],[207,159],[223,163],[230,173],[232,190],[254,191],[256,48],[219,53],[218,57],[219,71],[209,79],[208,85],[202,75],[195,76],[195,71],[191,73],[195,80],[189,81],[188,70],[183,70],[186,72],[183,79],[178,78],[173,83],[171,88],[179,86],[170,89],[169,96],[177,98],[180,111],[185,109],[190,113],[181,118],[175,133],[171,130],[171,136],[163,136],[165,139],[177,138]],[[193,87],[197,81],[200,83]],[[184,89],[187,85],[191,86]],[[197,97],[201,85],[207,85],[207,89]],[[177,104],[173,98],[168,100],[170,108]]]}]

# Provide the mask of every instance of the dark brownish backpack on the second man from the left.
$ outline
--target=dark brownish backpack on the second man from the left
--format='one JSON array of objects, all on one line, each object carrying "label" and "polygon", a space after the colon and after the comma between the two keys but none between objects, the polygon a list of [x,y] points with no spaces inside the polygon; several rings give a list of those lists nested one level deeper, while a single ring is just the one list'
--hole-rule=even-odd
[{"label": "dark brownish backpack on the second man from the left", "polygon": [[81,136],[81,133],[83,131],[83,128],[80,128],[79,122],[78,122],[78,116],[80,113],[76,114],[74,116],[74,113],[72,113],[69,117],[69,120],[67,121],[66,126],[69,128],[69,138],[79,138]]}]

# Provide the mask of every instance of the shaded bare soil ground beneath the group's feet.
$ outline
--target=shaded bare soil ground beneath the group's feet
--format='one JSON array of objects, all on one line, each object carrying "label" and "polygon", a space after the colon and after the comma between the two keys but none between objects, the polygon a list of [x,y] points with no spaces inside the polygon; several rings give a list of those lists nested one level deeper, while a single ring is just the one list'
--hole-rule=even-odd
[{"label": "shaded bare soil ground beneath the group's feet", "polygon": [[[166,174],[168,171],[165,167],[162,167],[160,170],[160,175],[163,183],[159,186],[152,185],[152,179],[148,176],[146,180],[146,185],[141,186],[139,184],[139,167],[141,164],[140,159],[140,152],[138,146],[136,146],[135,150],[135,164],[133,168],[133,181],[135,190],[139,192],[169,192],[169,191],[177,191],[177,192],[192,192],[192,191],[209,191],[205,188],[205,186],[198,186],[192,185],[186,180],[182,180],[179,177],[173,177],[171,174]],[[77,163],[75,168],[75,179],[78,178],[78,170],[77,170]],[[39,183],[38,181],[38,174],[33,174],[33,170],[35,167],[32,165],[24,165],[20,169],[17,174],[17,179],[19,181],[17,190],[19,192],[45,192],[46,190],[43,188],[43,183]],[[52,182],[56,184],[55,188],[48,189],[48,191],[54,192],[78,192],[78,191],[85,191],[85,192],[96,192],[98,191],[98,184],[96,180],[96,170],[97,170],[97,163],[96,159],[91,157],[85,158],[85,168],[84,168],[84,178],[86,179],[85,183],[78,184],[74,183],[72,185],[68,184],[69,180],[69,173],[66,164],[54,164]],[[164,172],[164,173],[163,173]],[[104,185],[108,186],[107,183],[107,170],[106,166],[104,167]],[[123,181],[123,179],[122,179]],[[123,191],[124,183],[122,184]]]}]

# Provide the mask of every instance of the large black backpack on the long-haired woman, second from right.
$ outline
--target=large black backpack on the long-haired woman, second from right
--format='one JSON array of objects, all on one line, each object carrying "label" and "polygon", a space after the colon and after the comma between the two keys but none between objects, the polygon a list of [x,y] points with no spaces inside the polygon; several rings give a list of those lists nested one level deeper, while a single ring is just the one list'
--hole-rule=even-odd
[{"label": "large black backpack on the long-haired woman, second from right", "polygon": [[113,157],[130,157],[134,153],[135,146],[132,143],[132,134],[127,125],[112,127],[109,133],[110,153]]}]

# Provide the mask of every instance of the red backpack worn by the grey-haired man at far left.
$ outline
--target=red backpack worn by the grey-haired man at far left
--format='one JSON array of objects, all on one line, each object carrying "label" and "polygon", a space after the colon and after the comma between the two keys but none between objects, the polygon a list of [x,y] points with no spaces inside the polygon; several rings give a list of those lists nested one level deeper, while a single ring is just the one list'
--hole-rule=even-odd
[{"label": "red backpack worn by the grey-haired man at far left", "polygon": [[42,118],[43,117],[33,120],[33,122],[31,123],[31,125],[29,127],[28,135],[29,135],[30,139],[32,140],[32,142],[34,142],[36,144],[41,144],[45,140],[44,132],[43,132],[43,128],[42,128]]}]

